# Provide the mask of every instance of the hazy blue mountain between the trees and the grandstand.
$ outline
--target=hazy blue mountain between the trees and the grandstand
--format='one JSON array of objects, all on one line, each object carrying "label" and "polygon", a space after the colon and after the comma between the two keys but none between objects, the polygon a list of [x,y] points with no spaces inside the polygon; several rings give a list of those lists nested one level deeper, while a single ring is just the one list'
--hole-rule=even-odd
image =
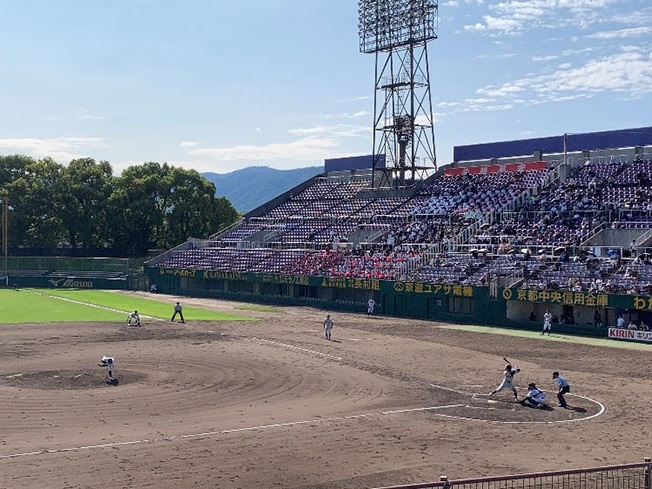
[{"label": "hazy blue mountain between the trees and the grandstand", "polygon": [[321,166],[275,170],[251,166],[231,173],[202,173],[217,188],[218,197],[226,197],[239,212],[247,213],[279,194],[324,171]]}]

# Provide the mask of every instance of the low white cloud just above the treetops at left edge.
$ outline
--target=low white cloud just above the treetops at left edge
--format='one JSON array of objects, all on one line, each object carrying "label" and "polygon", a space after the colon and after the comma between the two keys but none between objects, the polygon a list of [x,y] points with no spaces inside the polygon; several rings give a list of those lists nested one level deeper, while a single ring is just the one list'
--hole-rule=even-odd
[{"label": "low white cloud just above the treetops at left edge", "polygon": [[75,158],[95,157],[98,148],[108,148],[100,137],[67,136],[49,139],[5,138],[0,148],[7,153],[24,154],[34,158],[49,156],[60,163]]}]

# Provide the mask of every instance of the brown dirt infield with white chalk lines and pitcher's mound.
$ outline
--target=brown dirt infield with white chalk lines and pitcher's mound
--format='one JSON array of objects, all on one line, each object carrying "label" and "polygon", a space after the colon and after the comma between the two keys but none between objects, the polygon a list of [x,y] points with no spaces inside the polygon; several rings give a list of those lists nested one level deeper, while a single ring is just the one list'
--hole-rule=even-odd
[{"label": "brown dirt infield with white chalk lines and pitcher's mound", "polygon": [[[244,312],[260,320],[0,326],[0,487],[371,488],[651,455],[646,350],[340,313],[328,341],[322,311]],[[487,395],[503,356],[552,409]]]}]

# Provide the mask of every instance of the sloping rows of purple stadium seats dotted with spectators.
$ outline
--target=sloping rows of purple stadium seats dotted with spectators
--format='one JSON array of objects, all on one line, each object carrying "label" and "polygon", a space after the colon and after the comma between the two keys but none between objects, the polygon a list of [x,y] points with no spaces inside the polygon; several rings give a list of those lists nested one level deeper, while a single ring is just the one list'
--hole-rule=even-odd
[{"label": "sloping rows of purple stadium seats dotted with spectators", "polygon": [[[541,165],[456,171],[377,196],[370,177],[316,178],[209,247],[177,251],[160,266],[472,285],[499,277],[534,288],[648,290],[649,263],[628,268],[626,276],[603,257],[587,267],[584,259],[539,259],[521,250],[577,250],[605,227],[651,229],[652,162],[587,163],[563,181],[555,171]],[[470,253],[480,246],[482,256]]]}]

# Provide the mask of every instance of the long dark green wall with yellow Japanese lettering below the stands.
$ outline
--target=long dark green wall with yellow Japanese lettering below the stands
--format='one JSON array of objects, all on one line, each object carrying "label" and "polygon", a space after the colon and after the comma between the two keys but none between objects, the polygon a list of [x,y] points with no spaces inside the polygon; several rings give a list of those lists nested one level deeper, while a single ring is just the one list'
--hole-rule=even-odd
[{"label": "long dark green wall with yellow Japanese lettering below the stands", "polygon": [[360,312],[373,297],[380,315],[532,330],[541,328],[543,314],[550,310],[572,321],[554,324],[555,331],[595,336],[605,336],[619,314],[626,321],[652,324],[648,296],[160,267],[147,273],[159,292],[195,297]]}]

